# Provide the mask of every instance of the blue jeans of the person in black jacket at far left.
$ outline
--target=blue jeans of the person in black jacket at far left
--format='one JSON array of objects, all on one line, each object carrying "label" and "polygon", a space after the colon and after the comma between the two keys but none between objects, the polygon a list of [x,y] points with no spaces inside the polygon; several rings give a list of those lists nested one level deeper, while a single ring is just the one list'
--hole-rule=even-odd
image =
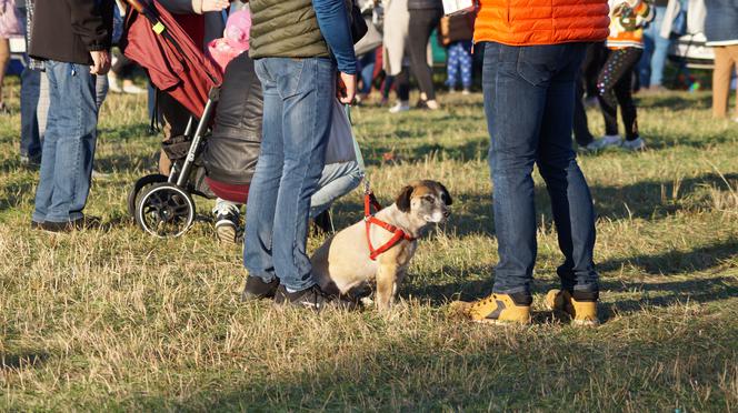
[{"label": "blue jeans of the person in black jacket at far left", "polygon": [[97,141],[96,77],[86,64],[46,62],[49,117],[36,189],[36,222],[81,219]]}]

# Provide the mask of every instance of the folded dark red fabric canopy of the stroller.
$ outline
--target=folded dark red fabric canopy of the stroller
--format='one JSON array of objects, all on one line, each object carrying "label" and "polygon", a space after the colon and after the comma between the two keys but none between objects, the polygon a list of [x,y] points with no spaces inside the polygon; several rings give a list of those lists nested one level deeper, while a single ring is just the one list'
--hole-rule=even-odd
[{"label": "folded dark red fabric canopy of the stroller", "polygon": [[141,2],[157,16],[164,31],[157,34],[151,22],[130,8],[121,41],[123,54],[147,70],[157,89],[200,118],[210,89],[222,82],[220,72],[163,6],[156,0]]}]

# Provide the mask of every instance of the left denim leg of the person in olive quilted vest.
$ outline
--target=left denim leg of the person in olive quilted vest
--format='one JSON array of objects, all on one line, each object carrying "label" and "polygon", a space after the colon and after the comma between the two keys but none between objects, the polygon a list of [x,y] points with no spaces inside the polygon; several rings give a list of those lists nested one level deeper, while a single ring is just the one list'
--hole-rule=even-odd
[{"label": "left denim leg of the person in olive quilted vest", "polygon": [[249,276],[270,283],[277,276],[273,259],[275,211],[279,183],[285,167],[282,138],[283,102],[278,88],[278,77],[271,59],[258,59],[255,69],[263,90],[263,125],[261,151],[249,187],[246,204],[246,231],[243,236],[243,266]]}]

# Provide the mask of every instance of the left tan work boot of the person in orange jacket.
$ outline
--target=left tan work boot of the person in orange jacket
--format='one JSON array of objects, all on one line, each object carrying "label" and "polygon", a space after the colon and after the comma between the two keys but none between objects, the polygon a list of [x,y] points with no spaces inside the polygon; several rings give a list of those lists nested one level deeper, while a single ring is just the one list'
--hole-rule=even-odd
[{"label": "left tan work boot of the person in orange jacket", "polygon": [[489,324],[530,324],[530,295],[491,294],[472,303],[457,302],[459,309],[471,321]]}]

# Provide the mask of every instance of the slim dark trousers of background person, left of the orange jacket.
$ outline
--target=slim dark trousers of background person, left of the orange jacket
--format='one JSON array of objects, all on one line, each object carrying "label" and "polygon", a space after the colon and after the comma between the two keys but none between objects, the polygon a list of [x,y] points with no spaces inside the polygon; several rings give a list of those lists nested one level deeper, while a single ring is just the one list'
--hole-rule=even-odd
[{"label": "slim dark trousers of background person, left of the orange jacket", "polygon": [[[438,27],[443,12],[439,9],[410,10],[410,28],[408,32],[410,66],[412,74],[418,80],[421,92],[426,93],[428,100],[436,99],[433,90],[432,71],[428,66],[428,39],[430,33]],[[401,98],[400,98],[401,99]]]}]

